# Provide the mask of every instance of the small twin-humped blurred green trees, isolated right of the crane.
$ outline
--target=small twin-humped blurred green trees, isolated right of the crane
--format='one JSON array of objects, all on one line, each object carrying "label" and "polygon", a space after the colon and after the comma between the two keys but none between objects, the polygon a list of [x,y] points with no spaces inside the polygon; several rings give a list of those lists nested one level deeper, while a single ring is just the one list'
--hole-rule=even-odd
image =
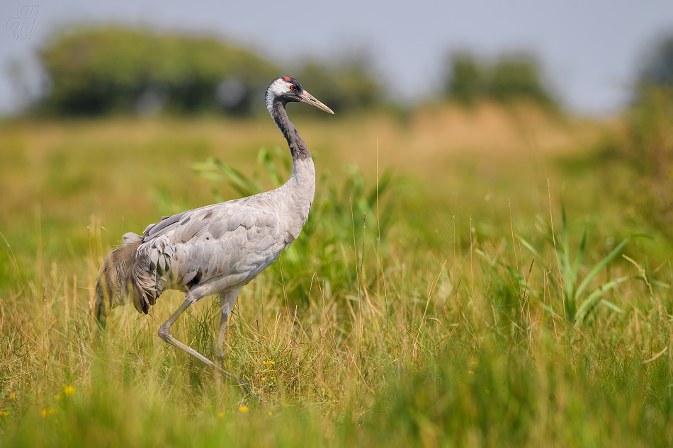
[{"label": "small twin-humped blurred green trees, isolated right of the crane", "polygon": [[446,65],[444,91],[449,100],[472,105],[485,99],[499,103],[524,99],[543,107],[556,106],[533,57],[514,55],[487,64],[460,53],[449,57]]}]

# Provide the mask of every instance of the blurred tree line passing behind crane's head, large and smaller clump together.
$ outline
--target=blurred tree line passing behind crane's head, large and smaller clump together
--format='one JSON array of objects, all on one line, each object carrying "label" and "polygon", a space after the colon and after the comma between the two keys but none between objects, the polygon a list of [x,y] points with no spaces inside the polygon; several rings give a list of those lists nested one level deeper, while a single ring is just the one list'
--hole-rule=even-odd
[{"label": "blurred tree line passing behind crane's head, large and smaller clump together", "polygon": [[312,61],[281,73],[273,62],[215,38],[149,30],[66,30],[52,38],[40,60],[50,88],[38,110],[54,115],[251,115],[264,110],[264,90],[281,74],[310,86],[335,112],[384,100],[364,58]]}]

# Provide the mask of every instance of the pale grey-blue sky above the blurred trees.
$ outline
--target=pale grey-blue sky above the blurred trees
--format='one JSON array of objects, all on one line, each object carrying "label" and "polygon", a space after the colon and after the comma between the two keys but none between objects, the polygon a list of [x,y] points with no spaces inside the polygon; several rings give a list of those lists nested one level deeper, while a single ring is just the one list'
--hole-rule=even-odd
[{"label": "pale grey-blue sky above the blurred trees", "polygon": [[541,62],[562,103],[583,115],[609,115],[627,105],[647,51],[673,34],[671,0],[37,0],[30,4],[31,10],[38,6],[30,38],[16,40],[13,17],[24,4],[0,2],[4,114],[16,113],[38,91],[43,83],[35,54],[68,25],[217,35],[281,67],[364,51],[400,101],[438,95],[451,52],[470,51],[486,60],[525,52]]}]

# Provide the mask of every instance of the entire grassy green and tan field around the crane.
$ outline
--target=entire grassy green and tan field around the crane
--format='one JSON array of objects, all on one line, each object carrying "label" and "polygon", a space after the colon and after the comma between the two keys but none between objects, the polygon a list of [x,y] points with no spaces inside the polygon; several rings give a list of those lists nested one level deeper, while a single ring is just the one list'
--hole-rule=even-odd
[{"label": "entire grassy green and tan field around the crane", "polygon": [[[310,219],[227,330],[258,397],[157,337],[181,294],[100,337],[91,297],[126,231],[284,181],[271,119],[0,123],[2,446],[673,443],[673,246],[629,194],[621,120],[327,118],[294,120]],[[217,309],[174,335],[212,358]]]}]

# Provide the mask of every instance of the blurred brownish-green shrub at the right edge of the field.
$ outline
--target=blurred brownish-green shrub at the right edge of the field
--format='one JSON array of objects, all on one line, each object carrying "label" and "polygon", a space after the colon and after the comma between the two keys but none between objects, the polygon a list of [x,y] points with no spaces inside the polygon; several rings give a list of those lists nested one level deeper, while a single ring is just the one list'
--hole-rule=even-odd
[{"label": "blurred brownish-green shrub at the right edge of the field", "polygon": [[[673,38],[657,43],[643,62],[624,131],[601,142],[596,163],[605,188],[633,205],[662,234],[673,236]],[[587,166],[588,168],[588,166]],[[616,180],[619,179],[619,180]]]}]

